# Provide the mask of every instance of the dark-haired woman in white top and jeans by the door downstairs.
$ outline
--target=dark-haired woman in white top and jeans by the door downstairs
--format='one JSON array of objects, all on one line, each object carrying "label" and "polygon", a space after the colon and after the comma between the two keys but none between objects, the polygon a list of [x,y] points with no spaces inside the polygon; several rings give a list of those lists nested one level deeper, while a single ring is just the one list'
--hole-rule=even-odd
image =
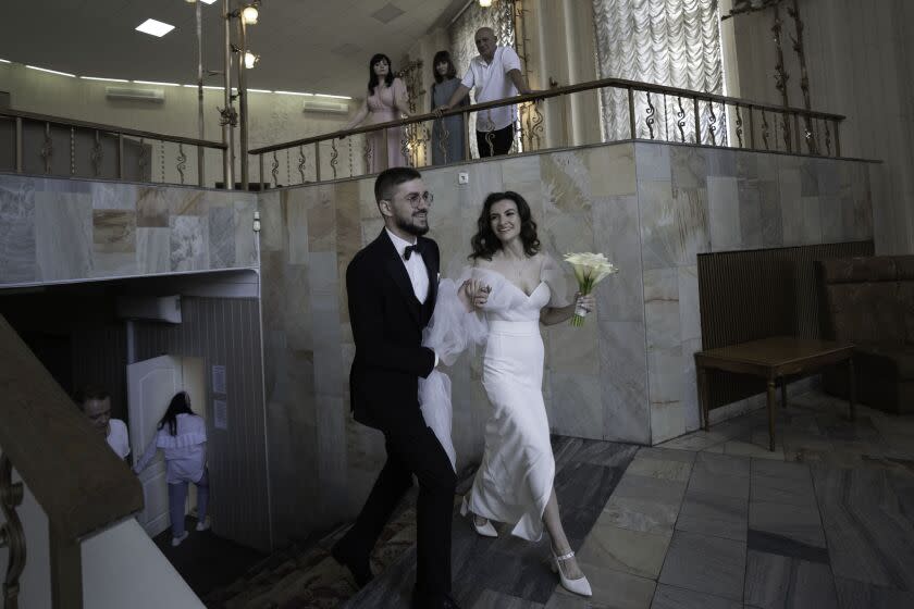
[{"label": "dark-haired woman in white top and jeans by the door downstairs", "polygon": [[165,456],[172,546],[177,546],[188,535],[184,530],[184,505],[187,500],[187,485],[192,482],[197,487],[197,531],[209,529],[207,426],[203,420],[190,410],[190,396],[187,391],[178,391],[172,398],[169,409],[159,421],[156,435],[134,467],[134,472],[143,472],[160,448]]}]

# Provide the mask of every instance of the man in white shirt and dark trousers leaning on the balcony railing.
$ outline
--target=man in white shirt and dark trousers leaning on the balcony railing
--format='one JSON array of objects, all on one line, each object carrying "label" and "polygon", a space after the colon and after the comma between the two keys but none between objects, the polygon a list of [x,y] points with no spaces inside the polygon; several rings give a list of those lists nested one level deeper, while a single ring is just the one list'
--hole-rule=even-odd
[{"label": "man in white shirt and dark trousers leaning on the balcony railing", "polygon": [[[510,47],[501,47],[495,41],[491,27],[481,27],[475,34],[479,55],[470,61],[470,67],[450,99],[441,110],[457,105],[470,89],[475,90],[475,102],[496,101],[521,94],[533,92],[520,73],[520,58]],[[477,145],[480,157],[507,154],[514,141],[515,107],[491,108],[477,114]]]}]

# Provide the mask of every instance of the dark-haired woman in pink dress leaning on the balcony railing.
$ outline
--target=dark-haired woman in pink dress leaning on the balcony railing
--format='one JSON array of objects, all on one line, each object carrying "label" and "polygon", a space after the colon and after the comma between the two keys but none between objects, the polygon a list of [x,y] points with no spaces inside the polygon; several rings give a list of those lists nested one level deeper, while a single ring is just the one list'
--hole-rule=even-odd
[{"label": "dark-haired woman in pink dress leaning on the balcony railing", "polygon": [[[400,114],[410,116],[406,85],[394,76],[391,58],[378,53],[368,62],[368,97],[345,129],[353,129],[362,123],[376,125],[396,121]],[[384,144],[386,132],[386,146]],[[366,134],[368,140],[368,173],[380,173],[387,167],[406,166],[400,141],[403,129],[391,127]]]}]

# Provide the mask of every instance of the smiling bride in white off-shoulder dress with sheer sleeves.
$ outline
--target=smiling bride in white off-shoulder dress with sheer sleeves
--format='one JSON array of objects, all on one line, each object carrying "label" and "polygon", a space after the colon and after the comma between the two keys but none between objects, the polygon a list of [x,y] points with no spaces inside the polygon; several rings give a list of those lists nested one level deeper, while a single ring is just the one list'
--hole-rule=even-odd
[{"label": "smiling bride in white off-shoulder dress with sheer sleeves", "polygon": [[[549,256],[539,251],[536,224],[527,201],[516,192],[493,192],[483,203],[472,238],[473,266],[466,275],[471,289],[484,290],[487,298],[472,301],[483,312],[475,315],[448,314],[456,299],[439,301],[423,344],[432,346],[445,363],[452,363],[467,343],[485,341],[483,386],[492,411],[485,424],[485,450],[472,490],[461,512],[473,514],[473,526],[485,536],[497,536],[490,520],[510,524],[511,534],[535,542],[543,527],[552,539],[553,567],[561,585],[570,592],[590,596],[590,584],[575,559],[558,513],[553,481],[555,459],[549,443],[549,424],[543,403],[543,340],[540,323],[551,325],[568,320],[575,312],[569,302],[565,276]],[[444,282],[443,282],[444,284]],[[453,291],[459,285],[455,283]],[[593,310],[592,296],[577,301]],[[441,310],[439,310],[441,309]],[[459,315],[459,316],[458,316]],[[459,321],[449,323],[444,318]],[[455,330],[459,326],[459,330]],[[443,355],[444,353],[444,355]],[[443,386],[445,384],[446,386]],[[432,397],[446,391],[446,406]],[[433,373],[420,388],[420,401],[429,425],[450,443],[449,381]],[[445,428],[446,427],[446,428]]]}]

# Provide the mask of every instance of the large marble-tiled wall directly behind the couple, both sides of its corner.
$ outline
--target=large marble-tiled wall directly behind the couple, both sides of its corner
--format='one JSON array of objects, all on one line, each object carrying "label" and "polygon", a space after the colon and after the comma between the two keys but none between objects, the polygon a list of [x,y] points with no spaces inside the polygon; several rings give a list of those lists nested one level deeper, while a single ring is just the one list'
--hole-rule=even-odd
[{"label": "large marble-tiled wall directly behind the couple, both sides of its corner", "polygon": [[[872,238],[879,165],[650,142],[423,172],[443,274],[465,263],[482,200],[517,190],[544,248],[605,252],[620,269],[583,330],[544,328],[543,391],[557,434],[656,444],[697,428],[692,355],[701,349],[697,254]],[[458,185],[458,173],[469,184]],[[276,535],[356,513],[383,460],[355,424],[346,383],[355,347],[345,294],[353,254],[383,226],[372,178],[261,196],[268,434]],[[480,353],[449,371],[458,467],[479,459],[487,400]],[[732,415],[745,403],[721,409]]]}]

